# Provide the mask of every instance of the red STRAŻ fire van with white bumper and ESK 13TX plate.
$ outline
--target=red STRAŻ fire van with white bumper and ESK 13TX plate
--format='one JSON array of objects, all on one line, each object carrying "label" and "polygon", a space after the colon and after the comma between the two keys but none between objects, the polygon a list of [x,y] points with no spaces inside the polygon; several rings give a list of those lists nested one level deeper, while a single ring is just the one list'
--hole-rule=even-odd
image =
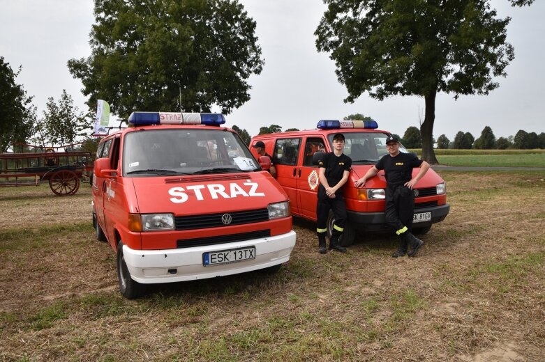
[{"label": "red STRA\u017b fire van with white bumper and ESK 13TX plate", "polygon": [[124,297],[290,259],[288,195],[223,115],[134,112],[128,123],[100,141],[92,181],[96,237],[117,252]]}]

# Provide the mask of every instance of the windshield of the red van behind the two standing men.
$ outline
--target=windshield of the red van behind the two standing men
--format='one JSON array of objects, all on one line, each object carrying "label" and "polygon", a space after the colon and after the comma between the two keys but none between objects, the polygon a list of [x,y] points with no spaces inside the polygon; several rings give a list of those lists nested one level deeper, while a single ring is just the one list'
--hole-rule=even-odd
[{"label": "windshield of the red van behind the two standing men", "polygon": [[[380,157],[386,155],[386,138],[388,134],[377,132],[345,132],[345,155],[350,156],[352,164],[375,164]],[[334,134],[329,134],[329,143],[333,142]],[[399,146],[399,152],[409,151]]]}]

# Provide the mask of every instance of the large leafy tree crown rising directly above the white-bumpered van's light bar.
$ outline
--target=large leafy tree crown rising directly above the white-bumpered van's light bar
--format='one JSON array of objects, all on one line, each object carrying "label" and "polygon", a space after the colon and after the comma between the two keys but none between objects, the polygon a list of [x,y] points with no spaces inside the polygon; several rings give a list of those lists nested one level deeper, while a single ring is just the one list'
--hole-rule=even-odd
[{"label": "large leafy tree crown rising directly above the white-bumpered van's light bar", "polygon": [[68,61],[90,108],[230,113],[250,99],[247,79],[264,61],[237,1],[95,0],[94,14],[91,56]]}]

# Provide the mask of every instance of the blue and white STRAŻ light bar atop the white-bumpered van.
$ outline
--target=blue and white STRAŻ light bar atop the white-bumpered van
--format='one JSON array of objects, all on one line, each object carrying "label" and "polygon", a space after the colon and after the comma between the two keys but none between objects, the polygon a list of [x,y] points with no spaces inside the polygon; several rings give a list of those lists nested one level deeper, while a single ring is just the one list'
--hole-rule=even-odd
[{"label": "blue and white STRA\u017b light bar atop the white-bumpered van", "polygon": [[225,123],[221,113],[179,113],[179,112],[133,112],[128,123],[134,126],[147,125],[211,125]]}]

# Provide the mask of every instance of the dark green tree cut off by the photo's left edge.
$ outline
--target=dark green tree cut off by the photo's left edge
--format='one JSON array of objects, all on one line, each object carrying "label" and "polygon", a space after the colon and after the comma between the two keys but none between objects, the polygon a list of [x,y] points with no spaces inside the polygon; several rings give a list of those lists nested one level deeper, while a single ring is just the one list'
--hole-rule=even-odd
[{"label": "dark green tree cut off by the photo's left edge", "polygon": [[15,83],[21,71],[13,72],[0,56],[0,153],[15,143],[24,143],[32,129],[32,97],[27,97],[22,85]]}]

